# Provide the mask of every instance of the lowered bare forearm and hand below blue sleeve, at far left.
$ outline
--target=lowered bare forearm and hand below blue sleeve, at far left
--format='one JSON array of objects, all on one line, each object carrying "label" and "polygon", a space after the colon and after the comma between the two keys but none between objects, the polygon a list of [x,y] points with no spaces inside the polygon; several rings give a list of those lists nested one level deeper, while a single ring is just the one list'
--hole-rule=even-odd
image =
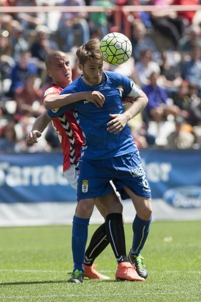
[{"label": "lowered bare forearm and hand below blue sleeve, at far left", "polygon": [[33,144],[38,142],[38,138],[42,135],[42,132],[47,127],[51,121],[51,117],[44,112],[35,120],[31,132],[26,136],[26,142],[28,144]]}]

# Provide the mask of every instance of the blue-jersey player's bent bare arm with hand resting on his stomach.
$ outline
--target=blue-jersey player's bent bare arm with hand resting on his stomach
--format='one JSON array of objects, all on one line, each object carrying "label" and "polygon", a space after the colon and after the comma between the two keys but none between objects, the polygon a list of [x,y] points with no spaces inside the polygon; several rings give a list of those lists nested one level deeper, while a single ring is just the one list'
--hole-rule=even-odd
[{"label": "blue-jersey player's bent bare arm with hand resting on his stomach", "polygon": [[124,127],[127,122],[138,115],[147,105],[148,99],[143,91],[140,91],[140,94],[136,98],[130,98],[133,100],[132,105],[123,113],[123,114],[110,114],[112,120],[107,124],[107,130],[110,133],[118,134]]}]

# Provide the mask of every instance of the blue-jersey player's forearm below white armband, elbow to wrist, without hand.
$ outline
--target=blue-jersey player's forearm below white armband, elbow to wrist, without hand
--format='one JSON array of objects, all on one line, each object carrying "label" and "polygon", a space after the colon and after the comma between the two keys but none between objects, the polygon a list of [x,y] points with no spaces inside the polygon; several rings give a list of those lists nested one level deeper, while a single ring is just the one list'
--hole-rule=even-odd
[{"label": "blue-jersey player's forearm below white armband, elbow to wrist, without hand", "polygon": [[127,122],[138,115],[147,106],[147,103],[147,96],[142,92],[140,96],[135,99],[133,104],[123,113]]}]

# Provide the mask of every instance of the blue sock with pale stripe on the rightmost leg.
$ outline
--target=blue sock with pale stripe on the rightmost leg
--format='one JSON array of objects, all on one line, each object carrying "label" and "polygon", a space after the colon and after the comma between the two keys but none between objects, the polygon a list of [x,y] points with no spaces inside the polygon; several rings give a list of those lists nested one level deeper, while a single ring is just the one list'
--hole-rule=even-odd
[{"label": "blue sock with pale stripe on the rightmost leg", "polygon": [[132,254],[139,255],[149,234],[149,226],[151,223],[151,218],[149,220],[143,220],[139,218],[136,214],[133,221],[133,245]]}]

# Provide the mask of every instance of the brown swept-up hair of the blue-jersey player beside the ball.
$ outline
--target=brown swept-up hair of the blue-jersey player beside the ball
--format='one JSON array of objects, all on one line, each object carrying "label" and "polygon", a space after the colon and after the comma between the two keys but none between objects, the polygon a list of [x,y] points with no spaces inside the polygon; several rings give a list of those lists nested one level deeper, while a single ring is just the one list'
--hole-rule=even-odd
[{"label": "brown swept-up hair of the blue-jersey player beside the ball", "polygon": [[97,62],[103,62],[102,56],[100,56],[100,42],[98,39],[90,39],[76,51],[76,56],[81,65],[84,65],[88,60],[94,60]]}]

